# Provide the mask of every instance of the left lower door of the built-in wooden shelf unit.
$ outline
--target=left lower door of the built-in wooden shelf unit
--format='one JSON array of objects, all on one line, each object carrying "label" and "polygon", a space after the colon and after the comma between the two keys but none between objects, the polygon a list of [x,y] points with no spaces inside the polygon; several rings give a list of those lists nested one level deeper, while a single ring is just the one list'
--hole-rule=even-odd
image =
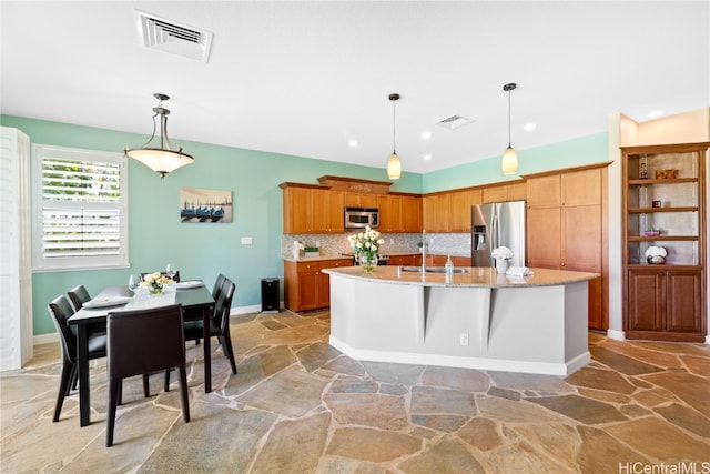
[{"label": "left lower door of the built-in wooden shelf unit", "polygon": [[628,331],[663,331],[666,272],[629,270]]}]

